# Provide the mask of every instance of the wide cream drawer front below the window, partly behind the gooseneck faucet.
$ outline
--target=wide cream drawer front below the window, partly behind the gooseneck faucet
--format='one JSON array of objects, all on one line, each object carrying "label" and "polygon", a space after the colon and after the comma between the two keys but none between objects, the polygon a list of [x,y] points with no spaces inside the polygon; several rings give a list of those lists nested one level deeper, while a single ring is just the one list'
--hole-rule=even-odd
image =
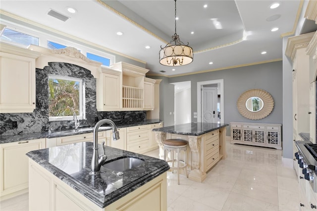
[{"label": "wide cream drawer front below the window, partly behind the gooseneck faucet", "polygon": [[[106,131],[98,132],[98,139],[106,138]],[[72,144],[77,142],[84,142],[84,141],[93,141],[94,134],[93,133],[86,133],[74,136],[65,136],[65,137],[58,137],[56,138],[56,144],[65,145],[65,144]]]}]

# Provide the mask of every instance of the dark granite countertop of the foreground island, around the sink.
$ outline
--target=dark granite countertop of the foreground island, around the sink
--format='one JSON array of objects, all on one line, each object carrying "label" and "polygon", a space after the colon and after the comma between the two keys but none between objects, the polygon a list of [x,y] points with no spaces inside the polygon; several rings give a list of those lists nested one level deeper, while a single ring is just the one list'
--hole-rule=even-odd
[{"label": "dark granite countertop of the foreground island, around the sink", "polygon": [[[105,208],[169,169],[168,164],[158,158],[107,146],[105,148],[106,161],[133,157],[143,159],[145,162],[123,171],[123,175],[117,175],[115,171],[102,166],[101,173],[93,176],[89,174],[93,154],[91,142],[36,150],[26,155],[101,208]],[[100,145],[98,150],[99,155],[102,155]]]}]

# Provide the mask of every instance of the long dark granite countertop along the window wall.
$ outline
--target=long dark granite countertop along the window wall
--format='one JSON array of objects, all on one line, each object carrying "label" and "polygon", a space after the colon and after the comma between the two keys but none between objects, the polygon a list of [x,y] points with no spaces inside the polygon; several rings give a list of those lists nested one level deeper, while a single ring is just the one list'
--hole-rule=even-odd
[{"label": "long dark granite countertop along the window wall", "polygon": [[[146,121],[142,121],[142,122],[131,122],[127,124],[116,125],[116,127],[117,128],[133,127],[133,126],[145,125],[145,124],[155,124],[159,122],[162,122],[162,121],[159,119],[147,119]],[[101,128],[99,129],[99,131],[102,131],[102,130],[106,130],[106,129],[101,129]],[[56,138],[56,137],[79,135],[79,134],[92,133],[92,132],[93,130],[78,131],[78,132],[73,132],[71,134],[54,134],[54,133],[49,134],[48,132],[37,132],[37,133],[21,133],[19,135],[5,135],[5,136],[0,136],[0,144],[26,141],[26,140],[32,140],[32,139]]]}]

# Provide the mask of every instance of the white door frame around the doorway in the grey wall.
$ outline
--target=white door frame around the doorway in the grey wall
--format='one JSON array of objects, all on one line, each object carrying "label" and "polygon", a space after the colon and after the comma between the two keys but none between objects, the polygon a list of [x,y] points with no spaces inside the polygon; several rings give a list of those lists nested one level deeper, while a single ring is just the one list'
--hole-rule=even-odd
[{"label": "white door frame around the doorway in the grey wall", "polygon": [[211,80],[211,81],[200,81],[197,82],[197,122],[202,121],[202,86],[208,84],[220,84],[220,123],[224,123],[224,109],[223,109],[223,79]]}]

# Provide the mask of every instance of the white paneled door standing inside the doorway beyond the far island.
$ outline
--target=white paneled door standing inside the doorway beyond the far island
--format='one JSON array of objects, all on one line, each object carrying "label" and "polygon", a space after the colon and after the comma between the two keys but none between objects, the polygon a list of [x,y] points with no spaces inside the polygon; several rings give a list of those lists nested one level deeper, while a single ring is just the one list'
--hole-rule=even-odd
[{"label": "white paneled door standing inside the doorway beyond the far island", "polygon": [[217,123],[217,88],[202,87],[202,122]]}]

